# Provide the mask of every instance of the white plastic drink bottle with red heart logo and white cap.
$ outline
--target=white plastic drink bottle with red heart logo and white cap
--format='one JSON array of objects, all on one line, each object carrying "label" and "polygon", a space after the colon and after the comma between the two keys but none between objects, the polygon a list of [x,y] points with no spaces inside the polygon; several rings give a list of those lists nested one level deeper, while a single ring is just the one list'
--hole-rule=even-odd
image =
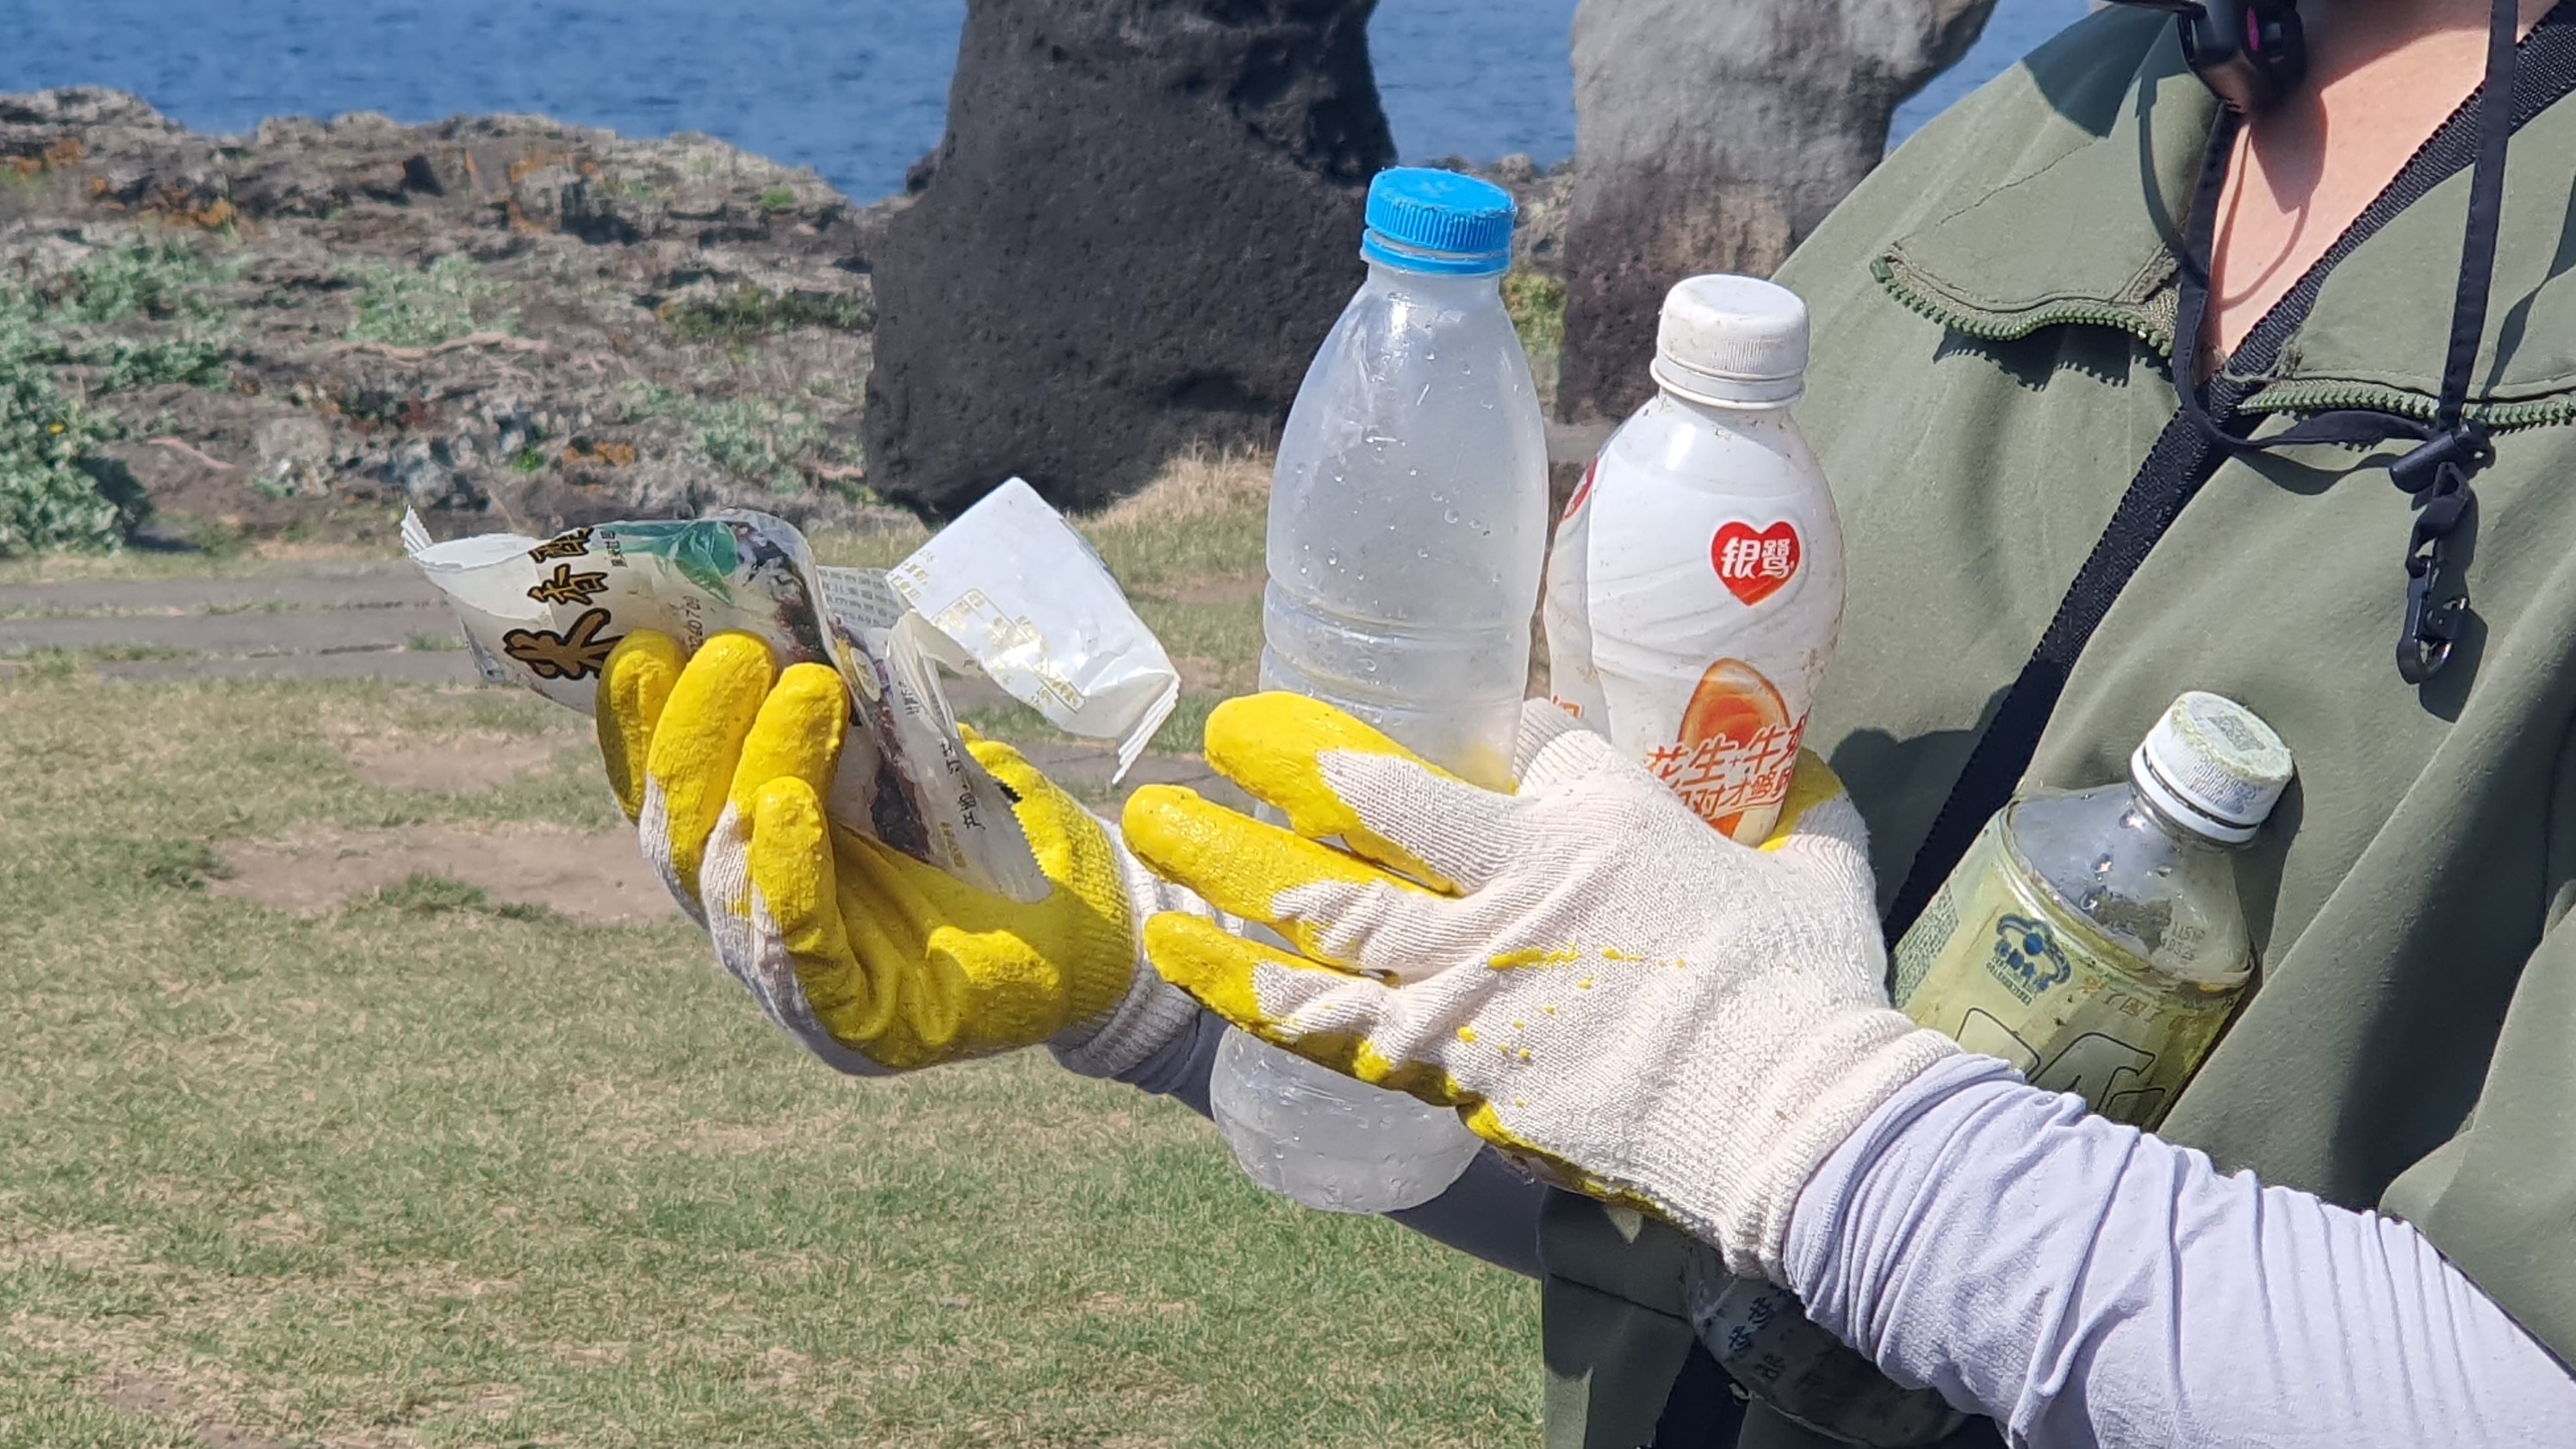
[{"label": "white plastic drink bottle with red heart logo and white cap", "polygon": [[1842,522],[1788,414],[1806,304],[1757,278],[1674,286],[1654,383],[1556,528],[1551,692],[1759,844],[1842,628]]}]

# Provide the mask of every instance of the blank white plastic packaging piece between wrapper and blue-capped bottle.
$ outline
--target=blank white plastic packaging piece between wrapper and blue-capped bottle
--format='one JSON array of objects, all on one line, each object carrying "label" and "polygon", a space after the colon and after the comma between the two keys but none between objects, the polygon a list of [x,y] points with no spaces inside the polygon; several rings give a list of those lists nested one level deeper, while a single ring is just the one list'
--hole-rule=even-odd
[{"label": "blank white plastic packaging piece between wrapper and blue-capped bottle", "polygon": [[1108,564],[1036,489],[1010,479],[886,582],[994,685],[1064,734],[1118,741],[1123,777],[1180,703],[1180,672]]}]

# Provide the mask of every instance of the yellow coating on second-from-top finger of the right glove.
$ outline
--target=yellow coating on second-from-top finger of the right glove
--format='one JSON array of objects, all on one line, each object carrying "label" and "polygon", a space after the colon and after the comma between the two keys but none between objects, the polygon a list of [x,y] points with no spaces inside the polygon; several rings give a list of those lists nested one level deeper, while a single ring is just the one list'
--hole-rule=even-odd
[{"label": "yellow coating on second-from-top finger of the right glove", "polygon": [[1121,829],[1136,860],[1157,875],[1185,880],[1218,911],[1278,927],[1316,960],[1334,957],[1311,924],[1278,906],[1280,893],[1319,880],[1342,880],[1427,896],[1412,880],[1378,870],[1350,852],[1213,806],[1180,785],[1146,785],[1128,795]]}]

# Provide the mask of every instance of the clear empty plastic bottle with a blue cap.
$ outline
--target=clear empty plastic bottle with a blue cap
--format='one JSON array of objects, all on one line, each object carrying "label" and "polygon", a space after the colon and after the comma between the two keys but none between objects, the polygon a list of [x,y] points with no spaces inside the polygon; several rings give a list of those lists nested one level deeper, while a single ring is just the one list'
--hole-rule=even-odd
[{"label": "clear empty plastic bottle with a blue cap", "polygon": [[[1546,425],[1497,283],[1512,198],[1455,172],[1383,172],[1360,255],[1368,283],[1280,438],[1262,687],[1510,790],[1548,543]],[[1479,1150],[1455,1112],[1242,1032],[1218,1048],[1211,1099],[1252,1181],[1327,1212],[1430,1202]]]}]

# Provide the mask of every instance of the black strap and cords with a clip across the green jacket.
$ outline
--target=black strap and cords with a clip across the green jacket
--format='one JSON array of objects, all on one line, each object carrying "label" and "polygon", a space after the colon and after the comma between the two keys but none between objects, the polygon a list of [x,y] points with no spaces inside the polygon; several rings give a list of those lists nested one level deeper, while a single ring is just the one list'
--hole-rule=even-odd
[{"label": "black strap and cords with a clip across the green jacket", "polygon": [[[2450,353],[2442,365],[2442,401],[2434,420],[2393,412],[2324,412],[2295,427],[2251,443],[2231,432],[2221,420],[2236,420],[2239,404],[2254,391],[2249,376],[2228,376],[2200,386],[2200,335],[2208,319],[2208,257],[2218,226],[2218,196],[2226,185],[2226,165],[2241,124],[2233,113],[2221,113],[2202,157],[2200,188],[2192,198],[2192,216],[2184,226],[2184,257],[2179,301],[2174,319],[2174,389],[2182,407],[2156,435],[2146,461],[2130,479],[2128,492],[2112,510],[2102,538],[2058,600],[2058,613],[2032,649],[2022,674],[2004,692],[1986,734],[1968,752],[1950,798],[1935,816],[1929,834],[1914,852],[1914,865],[1896,901],[1888,909],[1888,939],[1899,939],[1922,914],[1932,893],[1968,852],[1976,831],[2004,808],[2020,785],[2030,757],[2038,754],[2040,734],[2056,713],[2066,679],[2074,672],[2094,628],[2110,605],[2146,564],[2148,551],[2182,515],[2200,486],[2231,453],[2257,453],[2293,443],[2347,443],[2370,445],[2388,440],[2416,443],[2388,466],[2391,479],[2414,494],[2416,515],[2406,548],[2406,633],[2398,643],[2398,669],[2409,682],[2429,679],[2450,659],[2450,641],[2458,633],[2465,600],[2447,589],[2447,538],[2470,507],[2468,476],[2491,458],[2486,430],[2468,422],[2468,383],[2476,368],[2478,342],[2486,332],[2486,304],[2491,288],[2496,226],[2504,211],[2504,142],[2532,116],[2548,111],[2576,90],[2576,0],[2550,10],[2532,36],[2514,46],[2519,21],[2514,0],[2494,0],[2488,33],[2486,88],[2473,95],[2432,139],[2398,170],[2378,198],[2344,229],[2324,257],[2246,332],[2236,347],[2236,363],[2246,373],[2262,373],[2280,355],[2290,332],[2306,322],[2326,273],[2354,247],[2378,234],[2391,219],[2424,198],[2434,185],[2465,167],[2478,167],[2470,180],[2468,239],[2463,247],[2460,293],[2452,304]],[[2501,54],[2496,33],[2501,33]],[[2519,80],[2517,80],[2519,72]],[[2504,77],[2499,82],[2499,75]],[[2509,103],[2488,106],[2488,95]],[[2409,661],[2409,654],[2414,656]]]}]

